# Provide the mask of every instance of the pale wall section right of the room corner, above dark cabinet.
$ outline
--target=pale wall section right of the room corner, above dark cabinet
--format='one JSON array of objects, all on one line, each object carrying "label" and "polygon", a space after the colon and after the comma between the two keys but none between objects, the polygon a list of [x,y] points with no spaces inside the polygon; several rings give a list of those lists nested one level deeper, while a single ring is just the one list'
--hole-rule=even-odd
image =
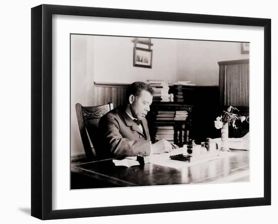
[{"label": "pale wall section right of the room corner, above dark cabinet", "polygon": [[180,40],[177,45],[177,79],[196,85],[219,85],[217,62],[249,58],[239,42]]}]

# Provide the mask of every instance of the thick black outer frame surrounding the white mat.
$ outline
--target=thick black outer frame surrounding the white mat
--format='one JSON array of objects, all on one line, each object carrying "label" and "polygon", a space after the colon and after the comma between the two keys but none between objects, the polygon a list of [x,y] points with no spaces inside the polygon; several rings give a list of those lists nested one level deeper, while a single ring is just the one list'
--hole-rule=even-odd
[{"label": "thick black outer frame surrounding the white mat", "polygon": [[[52,16],[177,21],[264,28],[264,196],[198,202],[138,204],[53,210],[52,208]],[[171,12],[40,5],[31,10],[31,215],[40,219],[75,218],[271,204],[271,20]]]}]

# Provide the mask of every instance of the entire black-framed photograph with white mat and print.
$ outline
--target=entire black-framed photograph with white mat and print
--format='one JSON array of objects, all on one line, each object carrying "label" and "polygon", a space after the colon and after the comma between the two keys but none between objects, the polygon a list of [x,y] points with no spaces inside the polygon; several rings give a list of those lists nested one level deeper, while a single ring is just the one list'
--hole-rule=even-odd
[{"label": "entire black-framed photograph with white mat and print", "polygon": [[31,215],[270,205],[270,28],[261,18],[32,8]]}]

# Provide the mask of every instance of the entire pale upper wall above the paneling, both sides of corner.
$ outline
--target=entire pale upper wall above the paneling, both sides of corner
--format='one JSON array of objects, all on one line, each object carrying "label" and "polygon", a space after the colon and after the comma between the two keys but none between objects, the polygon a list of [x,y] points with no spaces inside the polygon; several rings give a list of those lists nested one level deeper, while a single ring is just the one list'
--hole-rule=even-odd
[{"label": "entire pale upper wall above the paneling, both sides of corner", "polygon": [[[132,83],[166,79],[189,80],[197,85],[218,85],[218,61],[249,58],[239,42],[152,38],[152,68],[133,66],[133,37],[93,36],[95,81]],[[147,46],[141,45],[140,47]],[[91,64],[88,64],[91,66]]]}]

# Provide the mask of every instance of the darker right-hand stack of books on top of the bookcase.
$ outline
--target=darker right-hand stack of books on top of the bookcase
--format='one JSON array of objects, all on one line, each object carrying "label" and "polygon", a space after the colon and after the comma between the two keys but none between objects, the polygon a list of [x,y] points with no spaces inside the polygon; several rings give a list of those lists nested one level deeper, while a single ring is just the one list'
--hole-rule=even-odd
[{"label": "darker right-hand stack of books on top of the bookcase", "polygon": [[173,83],[174,101],[177,103],[189,103],[193,99],[193,86],[191,81],[178,81]]}]

